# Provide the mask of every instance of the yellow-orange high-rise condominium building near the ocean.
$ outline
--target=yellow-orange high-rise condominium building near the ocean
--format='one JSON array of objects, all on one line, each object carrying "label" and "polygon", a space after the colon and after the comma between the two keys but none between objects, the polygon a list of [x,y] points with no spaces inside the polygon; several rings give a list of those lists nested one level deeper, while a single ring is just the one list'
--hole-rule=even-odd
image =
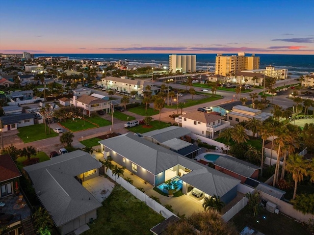
[{"label": "yellow-orange high-rise condominium building near the ocean", "polygon": [[222,55],[216,56],[216,69],[215,74],[222,76],[235,74],[241,70],[252,70],[260,68],[260,57],[245,56],[244,52],[238,53],[238,55]]}]

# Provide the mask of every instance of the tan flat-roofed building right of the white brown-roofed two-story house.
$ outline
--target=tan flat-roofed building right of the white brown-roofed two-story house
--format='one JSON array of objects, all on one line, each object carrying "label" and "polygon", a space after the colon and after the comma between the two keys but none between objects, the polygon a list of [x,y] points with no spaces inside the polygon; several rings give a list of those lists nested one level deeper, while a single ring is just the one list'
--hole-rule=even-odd
[{"label": "tan flat-roofed building right of the white brown-roofed two-story house", "polygon": [[271,113],[262,112],[260,109],[250,108],[243,105],[235,105],[232,108],[232,111],[227,113],[227,120],[232,126],[235,126],[236,124],[249,119],[255,118],[260,121],[264,121],[272,116],[273,115]]}]

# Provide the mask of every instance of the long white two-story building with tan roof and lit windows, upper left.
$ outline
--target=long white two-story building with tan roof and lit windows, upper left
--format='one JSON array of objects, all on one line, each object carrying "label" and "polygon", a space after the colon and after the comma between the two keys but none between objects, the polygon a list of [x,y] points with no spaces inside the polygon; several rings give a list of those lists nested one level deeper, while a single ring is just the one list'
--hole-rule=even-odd
[{"label": "long white two-story building with tan roof and lit windows, upper left", "polygon": [[143,95],[143,91],[145,91],[145,87],[148,85],[151,86],[151,92],[153,95],[159,92],[159,87],[154,86],[153,82],[145,80],[130,79],[128,77],[102,78],[102,87],[127,93],[131,93],[131,91],[137,91],[138,95]]}]

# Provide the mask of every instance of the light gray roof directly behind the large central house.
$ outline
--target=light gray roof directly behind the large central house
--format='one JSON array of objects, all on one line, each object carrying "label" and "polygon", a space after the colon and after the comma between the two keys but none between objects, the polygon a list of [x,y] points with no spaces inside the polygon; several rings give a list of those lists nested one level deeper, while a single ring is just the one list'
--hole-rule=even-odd
[{"label": "light gray roof directly behind the large central house", "polygon": [[188,135],[190,133],[191,131],[187,130],[186,128],[171,126],[171,127],[167,127],[160,130],[149,131],[149,132],[144,133],[143,135],[151,136],[152,138],[156,139],[158,142],[163,143],[165,141],[168,141],[174,138],[179,138],[181,136]]}]

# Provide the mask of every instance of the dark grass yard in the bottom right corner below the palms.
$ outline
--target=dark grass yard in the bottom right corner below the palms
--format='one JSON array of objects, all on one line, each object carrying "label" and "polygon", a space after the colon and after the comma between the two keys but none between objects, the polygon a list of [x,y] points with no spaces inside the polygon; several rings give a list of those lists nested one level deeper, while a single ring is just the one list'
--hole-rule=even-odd
[{"label": "dark grass yard in the bottom right corner below the palms", "polygon": [[[263,218],[265,216],[265,219]],[[265,235],[311,235],[302,224],[279,213],[270,213],[262,209],[255,219],[247,207],[239,211],[231,220],[239,232],[246,226]],[[259,222],[257,222],[259,221]]]}]

